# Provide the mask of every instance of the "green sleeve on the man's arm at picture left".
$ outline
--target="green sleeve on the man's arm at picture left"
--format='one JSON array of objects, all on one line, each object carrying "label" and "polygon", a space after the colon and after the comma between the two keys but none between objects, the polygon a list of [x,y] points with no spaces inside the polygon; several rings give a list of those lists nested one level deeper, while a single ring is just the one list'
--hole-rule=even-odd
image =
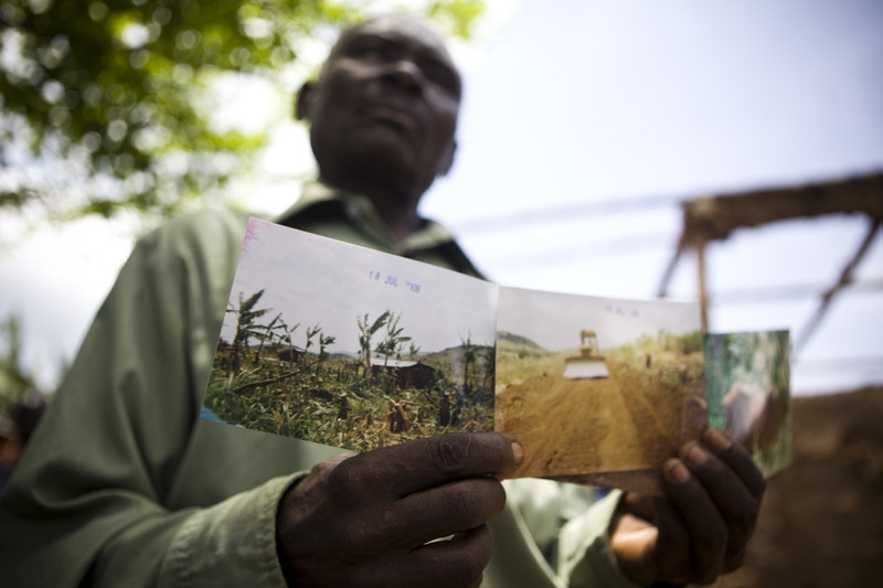
[{"label": "green sleeve on the man's arm at picture left", "polygon": [[285,585],[275,510],[292,478],[205,509],[167,501],[244,231],[236,215],[201,213],[136,246],[0,495],[4,581]]}]

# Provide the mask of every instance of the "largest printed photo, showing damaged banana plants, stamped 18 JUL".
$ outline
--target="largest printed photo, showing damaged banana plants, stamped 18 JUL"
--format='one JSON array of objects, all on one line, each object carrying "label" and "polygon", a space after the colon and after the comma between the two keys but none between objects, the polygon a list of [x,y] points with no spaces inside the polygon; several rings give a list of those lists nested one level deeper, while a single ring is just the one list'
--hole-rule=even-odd
[{"label": "largest printed photo, showing damaged banana plants, stamped 18 JUL", "polygon": [[203,418],[366,451],[493,430],[497,286],[252,220]]}]

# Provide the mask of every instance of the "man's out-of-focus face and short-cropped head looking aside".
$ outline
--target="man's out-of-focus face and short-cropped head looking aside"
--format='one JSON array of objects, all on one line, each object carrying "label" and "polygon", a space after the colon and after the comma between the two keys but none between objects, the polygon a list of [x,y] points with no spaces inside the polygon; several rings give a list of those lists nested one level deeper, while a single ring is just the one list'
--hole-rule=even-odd
[{"label": "man's out-of-focus face and short-cropped head looking aside", "polygon": [[419,21],[387,17],[351,29],[307,99],[322,177],[419,196],[447,172],[460,76]]}]

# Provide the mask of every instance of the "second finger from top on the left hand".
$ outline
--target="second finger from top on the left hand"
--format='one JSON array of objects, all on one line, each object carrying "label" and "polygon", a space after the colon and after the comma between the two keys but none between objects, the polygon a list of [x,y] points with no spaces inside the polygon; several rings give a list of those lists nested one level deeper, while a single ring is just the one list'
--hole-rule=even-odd
[{"label": "second finger from top on the left hand", "polygon": [[502,484],[490,477],[470,478],[409,494],[390,505],[377,525],[375,543],[413,549],[438,537],[478,527],[506,506]]}]

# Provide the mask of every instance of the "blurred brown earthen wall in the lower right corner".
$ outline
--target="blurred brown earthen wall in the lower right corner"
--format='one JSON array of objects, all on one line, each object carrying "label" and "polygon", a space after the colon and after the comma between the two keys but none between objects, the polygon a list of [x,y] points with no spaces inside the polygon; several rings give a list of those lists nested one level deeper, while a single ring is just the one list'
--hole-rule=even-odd
[{"label": "blurred brown earthen wall in the lower right corner", "polygon": [[883,388],[794,399],[745,565],[717,588],[883,587]]}]

